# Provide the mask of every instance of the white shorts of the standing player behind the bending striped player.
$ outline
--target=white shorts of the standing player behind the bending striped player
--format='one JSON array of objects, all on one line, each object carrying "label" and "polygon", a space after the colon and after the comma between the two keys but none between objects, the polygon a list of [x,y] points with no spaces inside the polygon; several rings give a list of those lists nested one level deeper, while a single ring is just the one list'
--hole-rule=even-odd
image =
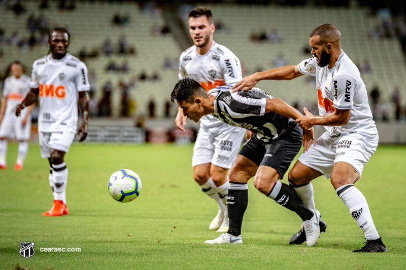
[{"label": "white shorts of the standing player behind the bending striped player", "polygon": [[245,129],[227,124],[214,128],[200,125],[193,147],[192,166],[212,163],[230,169],[240,151]]}]

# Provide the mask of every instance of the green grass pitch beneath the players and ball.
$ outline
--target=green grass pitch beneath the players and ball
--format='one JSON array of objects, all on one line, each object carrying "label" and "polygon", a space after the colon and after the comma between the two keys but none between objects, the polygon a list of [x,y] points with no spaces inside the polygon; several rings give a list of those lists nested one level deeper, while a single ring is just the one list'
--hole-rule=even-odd
[{"label": "green grass pitch beneath the players and ball", "polygon": [[[70,215],[43,217],[52,195],[48,161],[30,144],[24,169],[13,170],[17,144],[9,144],[0,171],[0,268],[29,269],[404,269],[406,268],[405,146],[379,146],[356,186],[367,199],[388,253],[355,254],[363,234],[329,180],[313,181],[316,207],[327,222],[315,247],[291,246],[301,224],[295,213],[249,183],[243,245],[208,245],[217,213],[192,179],[192,146],[74,144],[65,157]],[[118,169],[140,175],[143,189],[130,203],[109,196]],[[286,182],[286,177],[283,180]],[[35,255],[19,255],[19,242],[35,242]],[[41,252],[79,247],[81,252]]]}]

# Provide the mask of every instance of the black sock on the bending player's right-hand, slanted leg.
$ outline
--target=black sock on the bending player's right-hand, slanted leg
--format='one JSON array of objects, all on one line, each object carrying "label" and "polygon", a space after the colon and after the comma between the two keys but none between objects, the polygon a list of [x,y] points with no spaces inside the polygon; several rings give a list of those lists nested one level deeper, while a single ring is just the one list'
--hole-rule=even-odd
[{"label": "black sock on the bending player's right-hand, slanted leg", "polygon": [[[313,211],[303,204],[303,202],[297,196],[293,187],[285,183],[281,184],[281,189],[278,195],[275,196],[275,202],[298,214],[303,221],[311,219],[314,215]],[[276,184],[274,185],[274,187],[275,186]],[[272,189],[274,189],[274,187]],[[272,190],[270,190],[268,197],[270,194],[272,194]]]}]

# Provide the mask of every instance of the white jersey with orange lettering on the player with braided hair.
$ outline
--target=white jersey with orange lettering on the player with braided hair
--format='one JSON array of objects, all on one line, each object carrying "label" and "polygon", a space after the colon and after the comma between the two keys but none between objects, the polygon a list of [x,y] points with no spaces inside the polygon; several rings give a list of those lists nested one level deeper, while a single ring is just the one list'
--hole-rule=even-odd
[{"label": "white jersey with orange lettering on the player with braided hair", "polygon": [[30,87],[40,89],[38,131],[76,132],[78,92],[90,89],[83,62],[69,53],[60,60],[40,58],[32,64]]}]

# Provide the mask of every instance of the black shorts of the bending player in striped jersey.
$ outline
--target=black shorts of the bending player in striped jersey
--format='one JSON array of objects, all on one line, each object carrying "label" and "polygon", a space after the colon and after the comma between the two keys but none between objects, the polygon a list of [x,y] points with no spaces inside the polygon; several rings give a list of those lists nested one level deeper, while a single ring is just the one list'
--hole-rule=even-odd
[{"label": "black shorts of the bending player in striped jersey", "polygon": [[284,134],[275,141],[263,142],[254,134],[241,148],[242,155],[256,165],[274,168],[281,179],[289,169],[290,164],[300,151],[302,145],[302,130],[296,126],[291,133]]}]

